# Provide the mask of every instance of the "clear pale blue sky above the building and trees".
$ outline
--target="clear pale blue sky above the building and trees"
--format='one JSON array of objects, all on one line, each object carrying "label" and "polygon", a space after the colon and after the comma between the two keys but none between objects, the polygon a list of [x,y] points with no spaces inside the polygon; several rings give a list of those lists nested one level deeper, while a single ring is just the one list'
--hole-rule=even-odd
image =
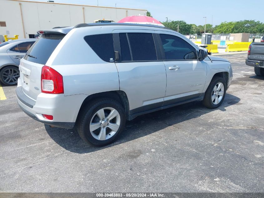
[{"label": "clear pale blue sky above the building and trees", "polygon": [[[35,0],[47,2],[47,0]],[[54,0],[55,3],[72,3],[97,6],[97,0]],[[221,22],[256,20],[264,22],[261,0],[98,0],[99,6],[138,8],[148,10],[153,18],[163,22],[183,20],[186,23],[204,25],[207,22],[219,25]]]}]

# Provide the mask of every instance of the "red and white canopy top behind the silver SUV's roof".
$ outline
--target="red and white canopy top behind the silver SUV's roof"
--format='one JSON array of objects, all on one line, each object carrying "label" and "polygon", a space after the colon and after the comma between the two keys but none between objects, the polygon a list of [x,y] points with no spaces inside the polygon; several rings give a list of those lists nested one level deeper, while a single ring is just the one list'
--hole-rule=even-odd
[{"label": "red and white canopy top behind the silver SUV's roof", "polygon": [[152,17],[147,17],[143,15],[134,15],[126,17],[118,21],[117,23],[138,23],[138,24],[150,24],[150,25],[159,25],[164,26],[157,19]]}]

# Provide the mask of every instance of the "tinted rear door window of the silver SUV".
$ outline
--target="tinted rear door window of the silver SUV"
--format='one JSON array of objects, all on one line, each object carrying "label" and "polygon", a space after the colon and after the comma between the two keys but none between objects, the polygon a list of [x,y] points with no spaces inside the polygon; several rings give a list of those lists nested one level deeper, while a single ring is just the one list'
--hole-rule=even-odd
[{"label": "tinted rear door window of the silver SUV", "polygon": [[157,60],[152,33],[128,33],[128,38],[134,61]]}]

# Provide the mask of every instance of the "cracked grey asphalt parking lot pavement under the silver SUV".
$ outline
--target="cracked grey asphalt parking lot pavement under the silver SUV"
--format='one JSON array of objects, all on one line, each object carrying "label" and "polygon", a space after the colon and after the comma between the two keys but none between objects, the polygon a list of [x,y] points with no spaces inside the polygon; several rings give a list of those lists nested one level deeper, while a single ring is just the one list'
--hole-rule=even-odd
[{"label": "cracked grey asphalt parking lot pavement under the silver SUV", "polygon": [[0,192],[263,192],[264,78],[246,53],[218,109],[201,102],[139,116],[112,145],[86,145],[0,101]]}]

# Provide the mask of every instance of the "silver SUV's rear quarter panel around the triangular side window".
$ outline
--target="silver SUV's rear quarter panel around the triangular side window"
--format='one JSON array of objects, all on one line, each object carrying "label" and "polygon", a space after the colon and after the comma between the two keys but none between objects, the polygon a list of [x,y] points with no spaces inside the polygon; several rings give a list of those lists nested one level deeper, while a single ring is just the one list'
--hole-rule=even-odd
[{"label": "silver SUV's rear quarter panel around the triangular side window", "polygon": [[[98,27],[96,27],[98,28]],[[93,28],[72,29],[58,44],[46,65],[63,76],[64,95],[86,94],[119,90],[115,63],[107,63],[85,42],[84,37],[98,33]],[[100,31],[100,33],[112,33]]]}]

